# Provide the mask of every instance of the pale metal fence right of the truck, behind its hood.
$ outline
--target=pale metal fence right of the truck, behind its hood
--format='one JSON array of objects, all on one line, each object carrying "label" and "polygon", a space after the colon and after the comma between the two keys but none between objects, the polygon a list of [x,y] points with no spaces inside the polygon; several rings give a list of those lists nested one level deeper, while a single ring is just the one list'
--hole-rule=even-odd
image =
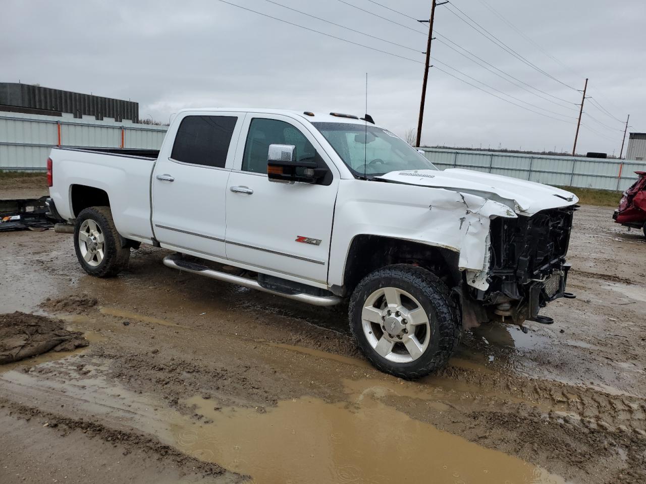
[{"label": "pale metal fence right of the truck, behind its hood", "polygon": [[646,163],[620,159],[526,155],[486,151],[419,148],[440,170],[466,168],[546,185],[623,191],[646,171]]}]

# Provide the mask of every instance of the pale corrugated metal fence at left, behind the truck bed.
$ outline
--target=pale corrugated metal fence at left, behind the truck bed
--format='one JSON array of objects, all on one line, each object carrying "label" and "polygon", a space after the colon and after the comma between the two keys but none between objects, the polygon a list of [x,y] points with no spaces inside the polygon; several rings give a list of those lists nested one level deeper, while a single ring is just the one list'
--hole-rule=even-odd
[{"label": "pale corrugated metal fence at left, behind the truck bed", "polygon": [[45,170],[52,146],[158,150],[166,130],[167,126],[0,112],[0,170]]}]

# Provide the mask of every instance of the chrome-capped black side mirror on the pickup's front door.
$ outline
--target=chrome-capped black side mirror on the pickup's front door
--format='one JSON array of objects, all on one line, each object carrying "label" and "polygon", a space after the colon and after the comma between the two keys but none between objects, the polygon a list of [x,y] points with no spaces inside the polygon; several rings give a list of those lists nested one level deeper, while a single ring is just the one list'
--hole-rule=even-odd
[{"label": "chrome-capped black side mirror on the pickup's front door", "polygon": [[270,181],[317,183],[326,171],[318,168],[315,161],[297,161],[294,145],[269,145],[267,177]]}]

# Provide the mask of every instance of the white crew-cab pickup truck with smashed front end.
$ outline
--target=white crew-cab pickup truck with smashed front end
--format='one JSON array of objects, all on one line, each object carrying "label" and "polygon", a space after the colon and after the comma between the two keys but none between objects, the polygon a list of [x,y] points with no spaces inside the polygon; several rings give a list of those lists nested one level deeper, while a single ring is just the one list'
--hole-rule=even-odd
[{"label": "white crew-cab pickup truck with smashed front end", "polygon": [[[119,150],[114,150],[119,151]],[[328,306],[375,367],[417,378],[463,329],[565,292],[578,199],[470,170],[439,171],[390,131],[347,114],[180,112],[152,154],[54,148],[52,214],[74,224],[81,266],[127,268],[140,243],[176,268]]]}]

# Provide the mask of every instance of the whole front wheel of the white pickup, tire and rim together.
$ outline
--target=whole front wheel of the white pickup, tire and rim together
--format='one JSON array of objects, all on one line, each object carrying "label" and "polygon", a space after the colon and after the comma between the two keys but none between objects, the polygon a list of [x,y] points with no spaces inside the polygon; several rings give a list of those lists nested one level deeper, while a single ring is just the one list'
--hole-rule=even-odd
[{"label": "whole front wheel of the white pickup, tire and rim together", "polygon": [[349,321],[366,358],[406,379],[446,365],[462,333],[448,287],[432,272],[406,264],[364,277],[350,299]]}]

